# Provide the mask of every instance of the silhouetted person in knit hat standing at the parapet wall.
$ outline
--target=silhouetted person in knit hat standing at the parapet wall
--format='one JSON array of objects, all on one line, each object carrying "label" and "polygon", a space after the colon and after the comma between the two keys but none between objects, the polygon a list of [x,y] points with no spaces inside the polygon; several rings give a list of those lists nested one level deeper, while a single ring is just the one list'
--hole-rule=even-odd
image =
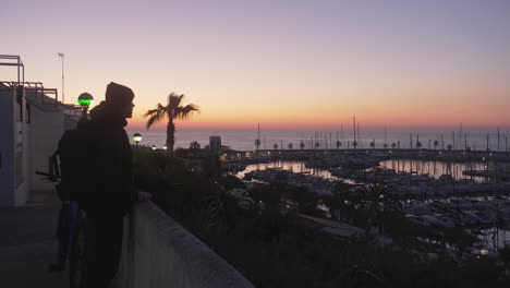
[{"label": "silhouetted person in knit hat standing at the parapet wall", "polygon": [[[89,132],[92,191],[80,202],[85,211],[84,287],[106,288],[114,277],[121,255],[123,218],[136,194],[133,157],[124,127],[133,115],[134,93],[111,82],[106,100],[90,111]],[[146,195],[142,195],[146,197]]]}]

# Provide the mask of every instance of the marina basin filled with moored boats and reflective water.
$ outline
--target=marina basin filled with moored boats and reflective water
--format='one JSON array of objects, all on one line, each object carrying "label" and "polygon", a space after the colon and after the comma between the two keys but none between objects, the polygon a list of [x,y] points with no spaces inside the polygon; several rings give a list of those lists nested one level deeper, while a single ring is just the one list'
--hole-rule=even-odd
[{"label": "marina basin filled with moored boats and reflective water", "polygon": [[[389,151],[272,153],[272,157],[270,151],[240,157],[227,163],[226,168],[248,181],[284,179],[287,184],[305,187],[321,197],[335,195],[339,185],[355,194],[372,183],[384,183],[385,195],[398,200],[405,217],[414,224],[463,227],[491,250],[509,243],[510,181],[496,177],[494,170],[494,159],[506,160],[509,156],[506,153],[481,152],[463,159],[458,157],[463,155],[459,151],[441,153],[442,159],[448,160],[435,159],[432,153],[420,151],[400,152],[397,157],[391,157]],[[485,175],[474,176],[470,171]],[[328,215],[336,218],[338,213],[331,211]]]}]

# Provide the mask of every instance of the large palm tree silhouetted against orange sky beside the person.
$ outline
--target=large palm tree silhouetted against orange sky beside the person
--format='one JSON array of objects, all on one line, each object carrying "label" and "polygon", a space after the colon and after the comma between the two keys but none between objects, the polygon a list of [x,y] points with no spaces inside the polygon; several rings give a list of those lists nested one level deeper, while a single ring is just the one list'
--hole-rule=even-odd
[{"label": "large palm tree silhouetted against orange sky beside the person", "polygon": [[149,129],[155,122],[168,119],[167,124],[167,151],[171,154],[173,153],[173,144],[175,143],[175,123],[178,119],[187,119],[193,112],[199,111],[198,106],[194,104],[189,104],[186,106],[181,106],[182,98],[184,94],[177,95],[175,93],[170,93],[167,98],[167,106],[162,106],[158,103],[156,109],[148,110],[145,112],[144,117],[147,118],[147,129]]}]

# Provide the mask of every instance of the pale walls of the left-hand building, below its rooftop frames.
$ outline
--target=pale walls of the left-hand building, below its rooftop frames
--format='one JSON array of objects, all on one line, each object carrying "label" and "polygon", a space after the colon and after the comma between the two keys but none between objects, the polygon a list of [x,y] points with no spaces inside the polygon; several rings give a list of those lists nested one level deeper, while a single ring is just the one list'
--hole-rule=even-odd
[{"label": "pale walls of the left-hand building, below its rooftop frames", "polygon": [[[58,141],[76,125],[54,107],[41,110],[29,105],[28,118],[25,98],[19,105],[16,92],[0,83],[0,206],[25,205],[31,191],[54,189],[35,171],[49,172]],[[20,107],[23,121],[19,121]]]}]

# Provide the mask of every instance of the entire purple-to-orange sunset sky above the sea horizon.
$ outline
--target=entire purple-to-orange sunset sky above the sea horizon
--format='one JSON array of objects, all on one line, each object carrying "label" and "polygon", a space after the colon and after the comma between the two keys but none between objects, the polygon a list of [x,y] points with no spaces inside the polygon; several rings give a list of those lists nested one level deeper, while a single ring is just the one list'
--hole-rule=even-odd
[{"label": "entire purple-to-orange sunset sky above the sea horizon", "polygon": [[[0,53],[65,100],[114,81],[130,125],[170,92],[187,128],[510,125],[510,1],[8,1]],[[15,70],[0,67],[0,80]]]}]

